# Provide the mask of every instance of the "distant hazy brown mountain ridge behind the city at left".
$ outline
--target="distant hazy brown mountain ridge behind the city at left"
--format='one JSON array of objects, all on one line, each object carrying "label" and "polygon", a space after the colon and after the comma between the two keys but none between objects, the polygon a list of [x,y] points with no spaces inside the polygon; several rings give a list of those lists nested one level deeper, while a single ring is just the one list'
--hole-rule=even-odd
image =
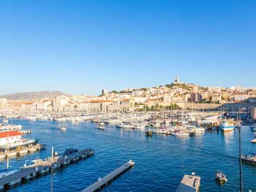
[{"label": "distant hazy brown mountain ridge behind the city at left", "polygon": [[18,92],[9,95],[1,95],[0,98],[7,100],[34,100],[43,97],[55,97],[56,95],[67,95],[59,91],[38,91],[38,92]]}]

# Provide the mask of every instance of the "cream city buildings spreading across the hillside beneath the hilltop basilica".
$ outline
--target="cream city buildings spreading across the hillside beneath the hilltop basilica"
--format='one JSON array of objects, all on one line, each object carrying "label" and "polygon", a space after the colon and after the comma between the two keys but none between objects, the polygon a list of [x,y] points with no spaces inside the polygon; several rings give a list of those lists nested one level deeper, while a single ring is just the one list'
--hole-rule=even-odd
[{"label": "cream city buildings spreading across the hillside beneath the hilltop basilica", "polygon": [[[256,103],[256,89],[243,87],[200,87],[179,82],[178,77],[170,85],[121,92],[102,90],[100,96],[56,95],[37,100],[0,99],[0,110],[21,112],[132,112],[152,106],[177,104],[201,104],[209,108],[226,102]],[[190,105],[191,106],[191,105]],[[199,106],[199,105],[198,105]],[[196,105],[195,105],[196,107]],[[202,108],[201,107],[201,108]]]}]

